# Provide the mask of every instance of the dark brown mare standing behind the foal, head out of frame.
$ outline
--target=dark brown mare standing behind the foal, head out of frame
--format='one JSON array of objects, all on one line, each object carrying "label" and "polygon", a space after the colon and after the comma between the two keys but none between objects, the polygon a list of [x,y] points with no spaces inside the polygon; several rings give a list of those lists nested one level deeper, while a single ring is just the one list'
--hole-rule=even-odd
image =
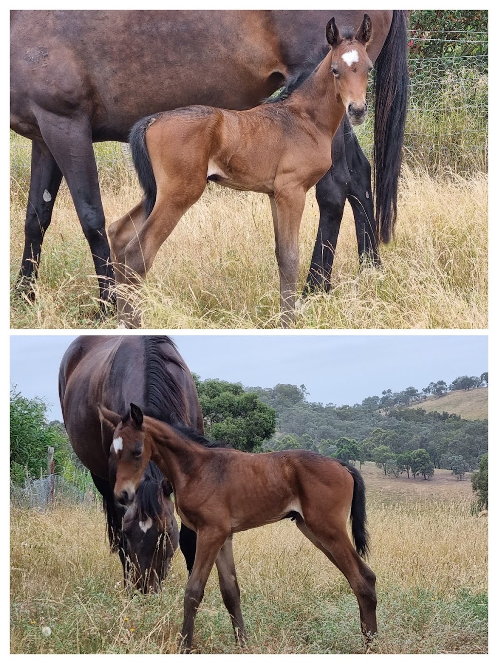
[{"label": "dark brown mare standing behind the foal, head out of frame", "polygon": [[[113,270],[92,141],[127,141],[148,114],[205,104],[246,109],[277,90],[323,44],[332,13],[359,25],[363,11],[12,11],[11,127],[33,141],[20,286],[37,276],[62,176],[90,245],[102,301]],[[406,112],[406,19],[371,11],[376,64],[370,165],[348,122],[333,165],[317,184],[320,222],[307,288],[329,288],[346,199],[361,260],[378,264],[378,234],[390,238]]]}]

